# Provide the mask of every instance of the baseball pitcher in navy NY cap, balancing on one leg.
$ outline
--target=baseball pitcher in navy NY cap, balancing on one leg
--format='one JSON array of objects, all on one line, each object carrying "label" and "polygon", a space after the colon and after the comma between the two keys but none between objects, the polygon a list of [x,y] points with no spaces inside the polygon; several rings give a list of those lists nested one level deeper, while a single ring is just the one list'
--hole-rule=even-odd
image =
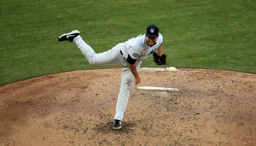
[{"label": "baseball pitcher in navy NY cap, balancing on one leg", "polygon": [[[75,43],[86,59],[92,65],[121,65],[122,80],[116,103],[116,115],[113,129],[120,129],[124,111],[130,96],[132,83],[140,83],[139,67],[141,61],[153,53],[157,65],[166,64],[166,55],[163,54],[163,36],[156,25],[148,26],[146,34],[140,34],[124,43],[119,43],[111,50],[95,53],[92,47],[84,42],[79,31],[72,31],[61,35],[59,41]],[[157,49],[157,53],[155,53]]]}]

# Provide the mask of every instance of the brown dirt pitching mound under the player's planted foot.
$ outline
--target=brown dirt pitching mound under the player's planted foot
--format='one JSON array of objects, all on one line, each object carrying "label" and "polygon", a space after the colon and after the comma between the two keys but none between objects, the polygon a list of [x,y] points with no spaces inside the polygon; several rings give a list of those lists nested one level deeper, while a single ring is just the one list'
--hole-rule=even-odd
[{"label": "brown dirt pitching mound under the player's planted foot", "polygon": [[0,87],[0,145],[255,145],[256,75],[178,68],[140,72],[122,129],[121,69],[74,71]]}]

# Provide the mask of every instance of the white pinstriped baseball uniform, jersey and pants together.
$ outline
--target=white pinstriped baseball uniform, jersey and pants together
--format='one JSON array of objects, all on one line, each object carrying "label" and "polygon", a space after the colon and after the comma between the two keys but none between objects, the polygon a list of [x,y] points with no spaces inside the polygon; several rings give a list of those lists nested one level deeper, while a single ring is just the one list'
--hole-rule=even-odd
[{"label": "white pinstriped baseball uniform, jersey and pants together", "polygon": [[135,65],[138,72],[141,61],[155,52],[160,45],[163,45],[163,36],[159,33],[159,37],[155,45],[149,46],[146,42],[145,34],[139,35],[124,43],[117,44],[111,50],[103,53],[95,53],[92,47],[87,45],[80,35],[74,38],[73,42],[92,65],[123,66],[121,87],[116,103],[116,115],[114,117],[114,119],[122,121],[130,96],[130,88],[134,81],[134,76],[130,71],[128,62],[126,60],[128,58],[128,54],[132,59],[136,59]]}]

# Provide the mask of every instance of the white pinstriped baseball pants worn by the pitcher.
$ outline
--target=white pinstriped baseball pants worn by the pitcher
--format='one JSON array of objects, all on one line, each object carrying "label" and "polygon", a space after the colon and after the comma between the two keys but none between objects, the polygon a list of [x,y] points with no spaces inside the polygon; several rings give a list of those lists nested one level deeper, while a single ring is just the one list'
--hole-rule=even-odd
[{"label": "white pinstriped baseball pants worn by the pitcher", "polygon": [[[95,53],[91,46],[87,45],[81,36],[77,36],[73,41],[86,59],[92,65],[122,65],[122,80],[120,92],[118,94],[117,103],[116,103],[116,115],[114,119],[123,120],[124,111],[127,107],[128,99],[130,96],[130,88],[134,82],[134,76],[130,71],[129,66],[126,65],[126,60],[120,53],[120,50],[124,49],[124,45],[116,45],[111,50],[103,53]],[[125,62],[124,62],[125,61]],[[137,63],[137,62],[136,62]],[[136,64],[137,72],[139,71],[141,62]]]}]

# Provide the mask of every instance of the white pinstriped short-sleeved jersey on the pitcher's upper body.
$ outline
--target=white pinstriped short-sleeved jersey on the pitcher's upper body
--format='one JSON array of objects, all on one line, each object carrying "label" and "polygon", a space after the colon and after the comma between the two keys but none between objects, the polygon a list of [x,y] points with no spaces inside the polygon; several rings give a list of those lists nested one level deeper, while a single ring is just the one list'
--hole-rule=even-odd
[{"label": "white pinstriped short-sleeved jersey on the pitcher's upper body", "polygon": [[159,33],[156,44],[149,46],[145,34],[140,34],[137,37],[133,37],[128,41],[124,42],[125,49],[122,49],[125,58],[127,59],[128,54],[132,59],[137,59],[136,62],[146,59],[150,54],[156,51],[156,49],[163,44],[163,36]]}]

